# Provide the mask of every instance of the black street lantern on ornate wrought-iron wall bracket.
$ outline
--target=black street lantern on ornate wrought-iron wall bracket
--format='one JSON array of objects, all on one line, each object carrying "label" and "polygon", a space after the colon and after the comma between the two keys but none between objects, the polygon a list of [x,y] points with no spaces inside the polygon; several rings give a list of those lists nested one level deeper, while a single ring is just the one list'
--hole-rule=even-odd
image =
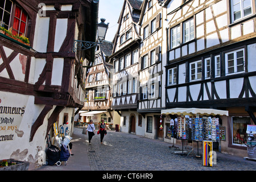
[{"label": "black street lantern on ornate wrought-iron wall bracket", "polygon": [[89,42],[84,40],[74,40],[73,44],[73,52],[76,52],[77,50],[83,51],[85,49],[92,48],[94,46],[97,46],[98,44],[102,44],[102,40],[105,39],[106,31],[108,30],[109,23],[105,23],[105,18],[101,18],[101,23],[97,24],[97,34],[98,34],[98,40],[100,42]]}]

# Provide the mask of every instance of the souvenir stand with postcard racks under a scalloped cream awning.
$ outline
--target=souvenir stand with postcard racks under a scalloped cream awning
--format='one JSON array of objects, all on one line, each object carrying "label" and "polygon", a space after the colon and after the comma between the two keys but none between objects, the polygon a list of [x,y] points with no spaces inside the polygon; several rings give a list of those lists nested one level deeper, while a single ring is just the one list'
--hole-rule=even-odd
[{"label": "souvenir stand with postcard racks under a scalloped cream awning", "polygon": [[[215,115],[228,115],[228,111],[214,109],[197,109],[197,108],[175,108],[162,110],[161,114],[176,115],[174,122],[170,122],[170,130],[168,133],[171,137],[180,139],[182,143],[182,151],[174,152],[175,154],[187,154],[184,151],[184,140],[197,142],[197,158],[199,155],[199,142],[209,140],[210,142],[218,142],[219,135],[219,119]],[[176,135],[174,135],[176,133]],[[190,152],[189,152],[190,153]]]}]

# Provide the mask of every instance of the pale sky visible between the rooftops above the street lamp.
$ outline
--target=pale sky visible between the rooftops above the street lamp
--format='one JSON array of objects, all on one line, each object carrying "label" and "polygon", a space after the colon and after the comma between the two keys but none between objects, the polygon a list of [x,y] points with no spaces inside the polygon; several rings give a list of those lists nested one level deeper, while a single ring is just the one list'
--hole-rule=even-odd
[{"label": "pale sky visible between the rooftops above the street lamp", "polygon": [[118,18],[123,7],[124,0],[100,0],[98,8],[98,23],[101,18],[105,18],[105,23],[109,23],[105,40],[112,42],[118,28]]}]

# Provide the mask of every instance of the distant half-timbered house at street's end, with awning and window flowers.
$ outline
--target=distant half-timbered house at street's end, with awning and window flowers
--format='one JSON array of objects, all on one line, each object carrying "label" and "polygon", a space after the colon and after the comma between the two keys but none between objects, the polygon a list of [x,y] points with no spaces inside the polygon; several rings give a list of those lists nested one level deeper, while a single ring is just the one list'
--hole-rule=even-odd
[{"label": "distant half-timbered house at street's end, with awning and window flowers", "polygon": [[101,119],[104,119],[107,126],[113,126],[114,111],[111,109],[110,84],[113,64],[109,62],[112,49],[113,43],[103,40],[102,44],[96,47],[94,62],[86,60],[88,69],[85,81],[85,103],[80,111],[83,122],[93,119],[94,123],[100,123]]}]

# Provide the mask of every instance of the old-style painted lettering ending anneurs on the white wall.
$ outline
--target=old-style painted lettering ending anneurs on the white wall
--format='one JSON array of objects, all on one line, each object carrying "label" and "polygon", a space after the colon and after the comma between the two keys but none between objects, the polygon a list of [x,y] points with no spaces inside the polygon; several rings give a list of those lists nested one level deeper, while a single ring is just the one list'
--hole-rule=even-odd
[{"label": "old-style painted lettering ending anneurs on the white wall", "polygon": [[19,131],[19,125],[25,113],[26,106],[19,105],[22,102],[13,102],[9,97],[0,96],[0,143],[14,140],[18,135],[21,137],[23,131]]}]

